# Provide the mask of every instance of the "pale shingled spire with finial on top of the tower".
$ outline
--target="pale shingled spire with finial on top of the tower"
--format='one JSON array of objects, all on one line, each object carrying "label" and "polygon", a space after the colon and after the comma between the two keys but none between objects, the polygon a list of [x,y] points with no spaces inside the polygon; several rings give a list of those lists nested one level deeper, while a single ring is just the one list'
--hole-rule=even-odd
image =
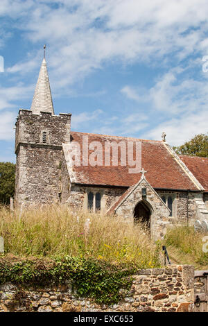
[{"label": "pale shingled spire with finial on top of the tower", "polygon": [[51,114],[54,114],[45,55],[44,59],[42,60],[42,65],[40,67],[40,73],[35,87],[35,94],[33,96],[31,110],[34,114],[40,114],[40,112],[50,112]]}]

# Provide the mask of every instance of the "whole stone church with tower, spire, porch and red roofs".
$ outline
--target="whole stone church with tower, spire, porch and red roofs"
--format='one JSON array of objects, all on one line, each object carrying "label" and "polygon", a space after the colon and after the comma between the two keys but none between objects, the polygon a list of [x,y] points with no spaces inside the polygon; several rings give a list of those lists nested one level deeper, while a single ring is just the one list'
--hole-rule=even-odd
[{"label": "whole stone church with tower, spire, porch and red roofs", "polygon": [[[86,156],[86,139],[91,146],[99,144],[101,159],[110,144],[107,164],[87,164],[95,147]],[[120,145],[130,143],[140,144],[137,173],[121,162]],[[73,144],[80,155],[76,164]],[[117,164],[112,149],[117,149]],[[165,137],[158,141],[71,131],[71,114],[54,114],[45,58],[31,110],[19,110],[15,153],[17,206],[67,203],[112,218],[119,214],[134,223],[145,221],[155,239],[175,223],[207,228],[208,158],[178,156]]]}]

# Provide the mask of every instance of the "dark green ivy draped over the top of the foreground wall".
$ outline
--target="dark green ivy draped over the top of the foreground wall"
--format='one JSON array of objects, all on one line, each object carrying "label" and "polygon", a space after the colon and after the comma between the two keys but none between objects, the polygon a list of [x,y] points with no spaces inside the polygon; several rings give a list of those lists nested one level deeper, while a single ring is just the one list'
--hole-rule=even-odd
[{"label": "dark green ivy draped over the top of the foreground wall", "polygon": [[53,261],[0,258],[0,284],[12,282],[38,287],[70,283],[76,295],[105,304],[119,302],[128,293],[134,273],[133,266],[113,266],[105,261],[80,257]]}]

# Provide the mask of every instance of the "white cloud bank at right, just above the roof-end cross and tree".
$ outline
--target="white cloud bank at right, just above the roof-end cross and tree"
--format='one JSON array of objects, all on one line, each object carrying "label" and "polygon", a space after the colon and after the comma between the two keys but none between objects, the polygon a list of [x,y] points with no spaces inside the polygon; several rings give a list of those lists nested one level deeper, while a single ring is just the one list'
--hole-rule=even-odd
[{"label": "white cloud bank at right, just above the roof-end cross and tree", "polygon": [[[152,114],[155,111],[157,118],[156,127],[144,132],[141,137],[161,139],[162,132],[166,132],[167,141],[177,146],[198,133],[208,132],[208,81],[180,79],[177,76],[180,72],[180,67],[171,69],[157,79],[152,88],[143,90],[143,100],[149,108],[149,121],[153,122]],[[128,89],[128,92],[123,93],[128,98],[139,99],[139,88],[128,85],[125,89]],[[154,126],[154,123],[151,125]],[[134,127],[133,123],[132,126]]]}]

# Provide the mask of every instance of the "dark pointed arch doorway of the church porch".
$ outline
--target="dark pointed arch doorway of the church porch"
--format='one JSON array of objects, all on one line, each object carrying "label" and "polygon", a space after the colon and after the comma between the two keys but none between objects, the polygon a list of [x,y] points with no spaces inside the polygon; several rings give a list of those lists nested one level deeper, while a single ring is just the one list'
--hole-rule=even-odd
[{"label": "dark pointed arch doorway of the church porch", "polygon": [[146,228],[150,230],[150,218],[151,218],[151,209],[149,205],[144,200],[137,203],[134,209],[134,222],[144,223],[146,225]]}]

